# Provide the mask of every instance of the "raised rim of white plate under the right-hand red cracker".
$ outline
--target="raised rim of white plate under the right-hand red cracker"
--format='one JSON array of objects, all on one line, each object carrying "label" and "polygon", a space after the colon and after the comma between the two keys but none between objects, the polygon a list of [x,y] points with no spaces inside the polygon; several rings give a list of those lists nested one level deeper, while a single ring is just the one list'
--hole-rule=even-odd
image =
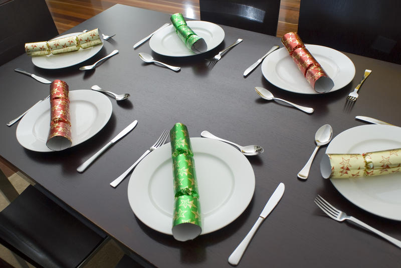
[{"label": "raised rim of white plate under the right-hand red cracker", "polygon": [[[348,84],[353,80],[353,78],[355,77],[355,65],[353,64],[353,62],[351,61],[351,59],[349,59],[349,57],[346,56],[344,53],[342,53],[342,52],[340,52],[340,51],[338,51],[338,50],[335,50],[335,49],[326,47],[326,46],[321,46],[321,45],[305,44],[305,47],[306,47],[308,50],[324,49],[324,50],[330,51],[331,53],[336,53],[336,54],[338,54],[338,55],[341,55],[341,57],[343,57],[343,59],[346,60],[346,61],[349,63],[349,68],[352,67],[352,68],[351,68],[351,69],[352,69],[352,72],[350,72],[350,73],[348,72],[350,75],[349,75],[349,78],[348,78],[347,80],[345,80],[346,82],[343,82],[340,86],[333,87],[333,89],[331,89],[331,90],[328,91],[328,92],[324,92],[324,93],[316,92],[316,91],[313,90],[312,87],[310,87],[310,92],[300,92],[300,91],[298,91],[298,90],[296,90],[296,89],[294,90],[294,89],[292,89],[292,88],[288,88],[288,87],[286,87],[286,85],[283,86],[282,84],[280,84],[279,82],[277,82],[277,81],[275,80],[276,78],[275,78],[274,76],[270,76],[270,72],[269,72],[270,69],[269,69],[268,66],[269,66],[269,61],[271,61],[273,57],[276,57],[276,55],[282,53],[282,51],[285,51],[286,54],[288,55],[288,52],[287,52],[287,50],[286,50],[285,47],[282,47],[282,48],[280,48],[280,49],[278,49],[278,50],[272,52],[270,55],[268,55],[268,56],[263,60],[261,69],[262,69],[262,75],[264,76],[264,78],[265,78],[269,83],[271,83],[272,85],[274,85],[274,86],[276,86],[277,88],[280,88],[280,89],[282,89],[282,90],[285,90],[285,91],[289,91],[289,92],[293,92],[293,93],[297,93],[297,94],[305,94],[305,95],[319,95],[319,94],[327,94],[327,93],[331,93],[331,92],[340,90],[340,89],[344,88],[346,85],[348,85]],[[311,52],[311,53],[312,53],[312,52]],[[280,58],[280,59],[282,59],[282,58]],[[275,63],[276,63],[276,62],[275,62]],[[275,65],[275,66],[276,66],[276,65]],[[294,66],[295,66],[295,65],[294,65]],[[298,71],[298,72],[299,72],[299,71]],[[352,73],[352,75],[351,75],[351,73]],[[276,74],[276,72],[275,72],[275,74]],[[270,78],[270,80],[269,80],[268,77]],[[272,78],[273,78],[273,79],[272,79]],[[273,80],[273,81],[271,81],[271,80]]]}]

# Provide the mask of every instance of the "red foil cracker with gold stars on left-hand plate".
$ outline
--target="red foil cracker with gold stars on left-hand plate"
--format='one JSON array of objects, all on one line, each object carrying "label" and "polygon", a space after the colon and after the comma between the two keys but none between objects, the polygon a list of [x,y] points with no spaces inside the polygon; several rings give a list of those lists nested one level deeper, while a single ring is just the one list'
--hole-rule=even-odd
[{"label": "red foil cracker with gold stars on left-hand plate", "polygon": [[70,101],[68,85],[61,80],[50,84],[50,131],[46,146],[54,151],[71,146]]}]

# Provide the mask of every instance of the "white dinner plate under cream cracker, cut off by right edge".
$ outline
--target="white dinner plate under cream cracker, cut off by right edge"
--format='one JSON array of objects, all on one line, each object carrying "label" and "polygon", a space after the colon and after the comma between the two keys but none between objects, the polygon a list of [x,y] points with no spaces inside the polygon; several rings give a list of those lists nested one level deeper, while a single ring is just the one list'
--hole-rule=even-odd
[{"label": "white dinner plate under cream cracker, cut off by right edge", "polygon": [[[338,134],[326,153],[366,153],[401,148],[401,128],[363,125]],[[331,179],[349,201],[375,215],[401,220],[401,173]]]}]

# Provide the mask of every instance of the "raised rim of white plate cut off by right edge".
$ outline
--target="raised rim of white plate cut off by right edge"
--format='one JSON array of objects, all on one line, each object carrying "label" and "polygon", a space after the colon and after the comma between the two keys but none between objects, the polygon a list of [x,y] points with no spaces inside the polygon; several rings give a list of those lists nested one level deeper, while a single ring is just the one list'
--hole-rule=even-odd
[{"label": "raised rim of white plate cut off by right edge", "polygon": [[[372,134],[372,129],[375,131],[374,134]],[[362,136],[362,137],[364,139],[366,139],[366,136],[368,136],[367,137],[367,140],[368,140],[368,139],[371,139],[372,136],[374,137],[374,135],[379,135],[379,134],[376,134],[378,132],[380,132],[380,134],[381,133],[387,133],[388,134],[388,131],[394,131],[395,132],[394,135],[397,135],[397,133],[401,134],[401,128],[399,128],[397,126],[386,126],[386,125],[376,125],[376,124],[374,124],[374,125],[361,125],[361,126],[356,126],[356,127],[352,127],[352,128],[346,129],[346,130],[342,131],[341,133],[339,133],[336,137],[333,138],[333,140],[330,142],[329,146],[326,148],[326,152],[325,153],[339,153],[340,151],[338,151],[338,150],[341,150],[341,147],[339,148],[336,144],[338,143],[338,140],[344,139],[344,135],[345,135],[345,138],[347,138],[348,136],[355,137],[355,132],[356,133],[363,132],[365,136]],[[382,136],[385,137],[384,134]],[[337,138],[337,137],[339,137],[339,138]],[[360,136],[358,136],[358,138],[360,138]],[[393,140],[397,141],[395,139],[393,139]],[[334,141],[334,143],[332,143],[333,141]],[[335,147],[335,150],[332,150],[333,146],[337,146],[337,147]],[[385,148],[383,148],[383,149],[385,149]],[[348,147],[345,147],[345,149],[343,149],[343,150],[345,152],[342,151],[342,153],[355,152],[353,150],[350,150],[350,148],[348,148]],[[349,150],[349,151],[346,151],[346,150]],[[357,152],[355,152],[355,153],[357,153]],[[359,152],[359,153],[361,153],[361,152]],[[401,173],[398,173],[398,174],[399,174],[399,176],[401,176]],[[386,176],[386,175],[383,175],[383,176]],[[351,196],[350,196],[348,190],[344,189],[343,187],[344,187],[344,182],[347,183],[349,181],[351,183],[352,179],[349,179],[349,178],[348,179],[347,178],[330,179],[330,181],[333,184],[334,188],[336,188],[337,191],[342,196],[344,196],[348,201],[350,201],[351,203],[353,203],[357,207],[359,207],[359,208],[361,208],[361,209],[363,209],[363,210],[365,210],[367,212],[370,212],[370,213],[372,213],[374,215],[383,217],[383,218],[388,218],[388,219],[398,220],[398,221],[401,220],[401,213],[398,213],[398,215],[394,215],[394,213],[391,213],[393,211],[393,209],[383,210],[382,207],[380,207],[380,209],[375,209],[374,207],[373,208],[369,207],[369,205],[371,205],[370,203],[369,204],[364,204],[364,200],[360,200],[360,197],[358,199],[357,195],[352,196],[352,194],[351,194]],[[350,184],[350,185],[352,187],[353,184]],[[349,186],[345,186],[345,187],[349,187]],[[376,202],[376,203],[378,204],[378,202]],[[395,205],[395,206],[398,207],[398,210],[399,210],[399,208],[401,208],[401,204],[400,205]]]}]

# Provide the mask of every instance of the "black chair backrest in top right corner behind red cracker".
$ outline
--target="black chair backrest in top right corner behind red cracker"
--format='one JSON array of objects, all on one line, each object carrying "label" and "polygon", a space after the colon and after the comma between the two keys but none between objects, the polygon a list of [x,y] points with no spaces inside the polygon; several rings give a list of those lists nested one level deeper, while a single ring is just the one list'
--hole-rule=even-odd
[{"label": "black chair backrest in top right corner behind red cracker", "polygon": [[302,0],[298,34],[304,43],[401,64],[401,1]]}]

